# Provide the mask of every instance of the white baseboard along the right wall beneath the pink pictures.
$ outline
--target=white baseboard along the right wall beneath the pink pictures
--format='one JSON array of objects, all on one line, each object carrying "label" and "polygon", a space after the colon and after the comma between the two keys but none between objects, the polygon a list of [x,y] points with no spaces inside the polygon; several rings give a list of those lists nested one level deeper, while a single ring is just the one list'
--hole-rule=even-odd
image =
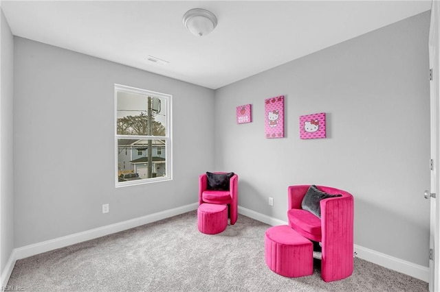
[{"label": "white baseboard along the right wall beneath the pink pictures", "polygon": [[[263,223],[269,224],[270,226],[284,225],[287,224],[286,221],[269,217],[263,215],[259,212],[249,210],[247,208],[239,207],[239,213],[248,216],[252,219],[261,221]],[[376,252],[375,250],[370,250],[366,247],[359,245],[354,246],[356,256],[362,258],[363,260],[368,260],[371,263],[386,267],[387,269],[392,269],[398,271],[399,273],[404,273],[413,278],[428,282],[429,281],[429,268],[415,263],[410,263],[406,260],[401,260],[400,258],[395,258],[393,256],[388,256],[388,254],[382,254],[381,252]]]}]

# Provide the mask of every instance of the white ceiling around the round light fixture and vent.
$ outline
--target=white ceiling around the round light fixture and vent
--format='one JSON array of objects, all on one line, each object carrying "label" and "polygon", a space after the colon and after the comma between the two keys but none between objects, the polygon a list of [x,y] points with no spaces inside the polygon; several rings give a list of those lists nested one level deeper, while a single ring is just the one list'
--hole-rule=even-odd
[{"label": "white ceiling around the round light fixture and vent", "polygon": [[[431,1],[11,1],[12,34],[217,89],[430,10]],[[195,36],[182,17],[213,12]],[[166,60],[158,64],[148,56]]]}]

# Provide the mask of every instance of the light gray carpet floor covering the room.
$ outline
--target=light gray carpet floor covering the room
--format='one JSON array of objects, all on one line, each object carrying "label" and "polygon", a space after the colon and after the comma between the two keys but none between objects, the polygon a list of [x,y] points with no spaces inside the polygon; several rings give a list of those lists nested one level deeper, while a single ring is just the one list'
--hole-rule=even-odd
[{"label": "light gray carpet floor covering the room", "polygon": [[265,223],[239,215],[220,234],[197,230],[197,211],[17,260],[22,291],[428,291],[428,283],[355,258],[353,275],[286,278],[265,264]]}]

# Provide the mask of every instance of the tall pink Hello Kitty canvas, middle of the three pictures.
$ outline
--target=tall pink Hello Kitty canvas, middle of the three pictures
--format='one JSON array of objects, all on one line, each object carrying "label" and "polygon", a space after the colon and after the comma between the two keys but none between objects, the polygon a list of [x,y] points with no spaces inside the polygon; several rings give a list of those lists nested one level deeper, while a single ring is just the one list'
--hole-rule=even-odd
[{"label": "tall pink Hello Kitty canvas, middle of the three pictures", "polygon": [[284,95],[265,99],[266,138],[284,137]]}]

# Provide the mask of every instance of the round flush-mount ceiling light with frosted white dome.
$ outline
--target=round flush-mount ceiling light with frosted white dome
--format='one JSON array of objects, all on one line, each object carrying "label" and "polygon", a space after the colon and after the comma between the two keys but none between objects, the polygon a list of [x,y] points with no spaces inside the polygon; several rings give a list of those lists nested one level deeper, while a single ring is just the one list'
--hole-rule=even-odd
[{"label": "round flush-mount ceiling light with frosted white dome", "polygon": [[195,8],[184,14],[185,27],[196,36],[205,36],[217,26],[217,17],[205,9]]}]

